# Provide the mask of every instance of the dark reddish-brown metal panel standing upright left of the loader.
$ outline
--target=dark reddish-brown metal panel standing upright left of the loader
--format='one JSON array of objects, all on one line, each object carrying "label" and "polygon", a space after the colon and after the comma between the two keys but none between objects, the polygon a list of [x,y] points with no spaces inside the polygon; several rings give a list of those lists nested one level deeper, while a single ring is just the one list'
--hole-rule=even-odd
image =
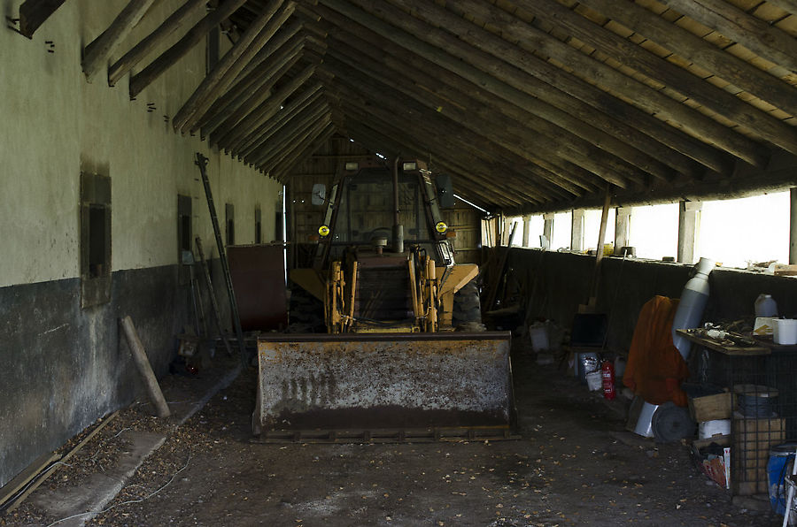
[{"label": "dark reddish-brown metal panel standing upright left of the loader", "polygon": [[244,332],[288,325],[282,244],[227,247],[229,273]]}]

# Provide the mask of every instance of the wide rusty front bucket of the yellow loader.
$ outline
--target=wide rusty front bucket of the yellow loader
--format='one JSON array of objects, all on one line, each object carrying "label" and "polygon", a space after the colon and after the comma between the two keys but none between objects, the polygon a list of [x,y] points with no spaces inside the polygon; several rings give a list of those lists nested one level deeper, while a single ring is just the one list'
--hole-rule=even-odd
[{"label": "wide rusty front bucket of the yellow loader", "polygon": [[509,438],[508,332],[261,336],[261,439]]}]

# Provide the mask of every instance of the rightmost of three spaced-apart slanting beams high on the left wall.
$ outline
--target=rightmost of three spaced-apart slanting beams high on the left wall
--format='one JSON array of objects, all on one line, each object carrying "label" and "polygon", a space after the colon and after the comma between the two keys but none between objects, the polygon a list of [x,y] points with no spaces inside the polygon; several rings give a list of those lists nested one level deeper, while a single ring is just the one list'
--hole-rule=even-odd
[{"label": "rightmost of three spaced-apart slanting beams high on the left wall", "polygon": [[221,4],[215,11],[209,12],[205,18],[199,20],[194,27],[182,36],[182,38],[171,48],[160,54],[141,72],[136,73],[130,78],[130,98],[140,94],[143,88],[151,84],[153,80],[159,78],[161,74],[172,67],[174,63],[184,57],[194,46],[197,45],[213,27],[218,26],[225,19],[244,5],[247,0],[228,0]]}]

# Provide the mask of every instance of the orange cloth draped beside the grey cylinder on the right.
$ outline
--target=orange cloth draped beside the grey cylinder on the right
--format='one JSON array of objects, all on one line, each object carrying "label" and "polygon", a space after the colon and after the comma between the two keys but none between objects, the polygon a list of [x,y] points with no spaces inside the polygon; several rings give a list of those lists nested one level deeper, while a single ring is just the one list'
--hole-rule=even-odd
[{"label": "orange cloth draped beside the grey cylinder on the right", "polygon": [[684,357],[672,342],[677,299],[654,296],[639,311],[623,385],[651,404],[673,401],[686,406],[681,384],[689,377]]}]

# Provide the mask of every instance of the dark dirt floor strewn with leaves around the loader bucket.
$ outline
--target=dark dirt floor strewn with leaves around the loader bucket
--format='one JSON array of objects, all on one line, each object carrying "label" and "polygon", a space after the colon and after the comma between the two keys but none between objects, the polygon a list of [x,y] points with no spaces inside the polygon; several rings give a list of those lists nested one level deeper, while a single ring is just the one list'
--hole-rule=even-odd
[{"label": "dark dirt floor strewn with leaves around the loader bucket", "polygon": [[[522,439],[254,443],[256,371],[250,368],[176,429],[151,417],[149,405],[124,410],[41,492],[81,485],[90,472],[104,470],[128,447],[120,431],[133,428],[165,432],[166,441],[88,524],[779,524],[780,516],[743,508],[700,474],[685,443],[657,445],[626,432],[623,401],[604,401],[555,366],[539,366],[522,343],[515,348]],[[229,364],[214,364],[222,366]],[[200,399],[202,375],[163,379],[167,399],[173,405],[180,402],[176,393]],[[175,383],[179,389],[170,391]],[[60,519],[27,500],[0,516],[0,524]]]}]

